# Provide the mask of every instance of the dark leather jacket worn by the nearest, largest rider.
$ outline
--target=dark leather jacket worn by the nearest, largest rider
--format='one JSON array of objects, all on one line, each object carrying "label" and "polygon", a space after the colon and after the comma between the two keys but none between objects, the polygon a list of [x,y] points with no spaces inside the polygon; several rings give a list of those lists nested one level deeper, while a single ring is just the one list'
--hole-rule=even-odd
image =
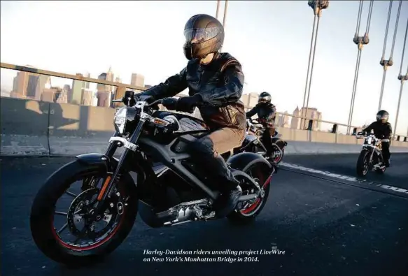
[{"label": "dark leather jacket worn by the nearest, largest rider", "polygon": [[141,94],[163,99],[189,89],[189,96],[199,94],[204,105],[199,107],[210,129],[246,128],[244,103],[239,99],[244,87],[244,73],[237,59],[228,53],[216,53],[210,64],[192,59],[183,70]]}]

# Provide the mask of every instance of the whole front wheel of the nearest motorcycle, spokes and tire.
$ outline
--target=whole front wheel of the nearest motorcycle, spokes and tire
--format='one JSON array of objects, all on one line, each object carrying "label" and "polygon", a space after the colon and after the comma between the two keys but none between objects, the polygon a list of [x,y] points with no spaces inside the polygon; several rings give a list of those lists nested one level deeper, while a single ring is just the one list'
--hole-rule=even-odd
[{"label": "whole front wheel of the nearest motorcycle, spokes and tire", "polygon": [[[31,209],[31,234],[54,261],[82,265],[112,252],[127,237],[137,212],[136,192],[120,180],[111,198],[97,196],[110,175],[73,162],[52,175]],[[99,210],[99,211],[98,211]]]}]

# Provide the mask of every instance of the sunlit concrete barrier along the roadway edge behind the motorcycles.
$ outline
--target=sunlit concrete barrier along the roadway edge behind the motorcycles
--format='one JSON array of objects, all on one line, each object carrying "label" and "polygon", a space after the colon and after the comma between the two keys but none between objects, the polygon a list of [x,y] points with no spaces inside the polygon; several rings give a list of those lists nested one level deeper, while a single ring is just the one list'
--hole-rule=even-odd
[{"label": "sunlit concrete barrier along the roadway edge behind the motorcycles", "polygon": [[[1,97],[1,155],[73,156],[104,152],[114,132],[112,108],[77,106]],[[286,154],[358,153],[354,136],[278,128]],[[393,141],[392,152],[408,152]]]}]

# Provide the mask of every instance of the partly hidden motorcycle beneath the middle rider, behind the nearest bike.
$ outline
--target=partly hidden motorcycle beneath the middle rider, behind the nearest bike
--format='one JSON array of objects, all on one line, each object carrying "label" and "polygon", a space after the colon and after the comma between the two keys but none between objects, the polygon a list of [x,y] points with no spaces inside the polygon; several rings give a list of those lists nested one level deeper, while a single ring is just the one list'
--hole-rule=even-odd
[{"label": "partly hidden motorcycle beneath the middle rider, behind the nearest bike", "polygon": [[[255,124],[254,124],[255,121]],[[288,142],[282,140],[281,134],[275,131],[275,135],[272,137],[272,156],[267,156],[267,149],[262,143],[262,135],[265,128],[258,122],[257,119],[246,119],[246,137],[240,147],[234,148],[231,152],[223,154],[223,157],[227,159],[231,155],[239,154],[241,152],[253,152],[262,155],[270,161],[274,161],[275,164],[279,164],[283,155],[285,154],[285,147]]]}]

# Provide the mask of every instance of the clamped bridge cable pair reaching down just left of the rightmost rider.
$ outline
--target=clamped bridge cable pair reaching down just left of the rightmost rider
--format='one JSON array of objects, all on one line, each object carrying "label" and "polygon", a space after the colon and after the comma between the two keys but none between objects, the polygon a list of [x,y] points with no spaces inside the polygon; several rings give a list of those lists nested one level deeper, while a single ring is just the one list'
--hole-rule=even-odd
[{"label": "clamped bridge cable pair reaching down just left of the rightmost rider", "polygon": [[360,34],[361,15],[363,13],[363,0],[360,0],[360,6],[358,8],[358,15],[357,15],[357,27],[356,27],[357,31],[356,31],[356,34],[354,35],[354,38],[353,38],[353,42],[356,43],[356,45],[358,47],[358,52],[357,52],[357,59],[356,59],[356,69],[354,71],[353,90],[351,92],[349,121],[347,122],[347,134],[350,134],[351,123],[353,121],[353,110],[354,110],[354,103],[356,101],[358,73],[360,72],[360,61],[361,61],[363,46],[370,43],[369,34],[370,34],[370,25],[371,25],[373,7],[374,7],[374,0],[371,0],[370,1],[370,6],[368,8],[367,26],[366,26],[366,29],[365,29],[365,34],[364,34],[364,36],[359,36],[359,34]]}]

